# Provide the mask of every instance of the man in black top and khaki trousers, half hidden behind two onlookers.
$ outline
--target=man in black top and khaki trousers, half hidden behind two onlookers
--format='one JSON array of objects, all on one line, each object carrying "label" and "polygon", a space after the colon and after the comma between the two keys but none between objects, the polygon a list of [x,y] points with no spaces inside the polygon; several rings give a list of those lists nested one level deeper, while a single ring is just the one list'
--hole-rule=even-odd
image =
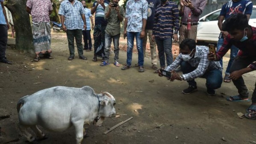
[{"label": "man in black top and khaki trousers, half hidden behind two onlookers", "polygon": [[154,27],[154,14],[160,0],[147,0],[148,2],[148,19],[145,28],[145,37],[143,38],[143,53],[146,54],[147,38],[149,39],[152,69],[157,69],[157,49],[156,42],[152,40],[152,29]]}]

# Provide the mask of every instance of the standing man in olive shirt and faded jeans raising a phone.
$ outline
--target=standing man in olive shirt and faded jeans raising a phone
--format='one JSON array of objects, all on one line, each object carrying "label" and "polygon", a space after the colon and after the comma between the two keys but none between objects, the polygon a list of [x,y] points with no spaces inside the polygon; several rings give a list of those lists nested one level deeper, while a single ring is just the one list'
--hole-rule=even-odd
[{"label": "standing man in olive shirt and faded jeans raising a phone", "polygon": [[105,20],[107,20],[108,25],[105,29],[105,58],[101,66],[106,66],[109,64],[109,52],[111,48],[111,41],[114,44],[114,65],[119,67],[119,38],[120,38],[120,22],[124,19],[124,9],[122,6],[118,5],[119,0],[113,0],[113,3],[105,9]]}]

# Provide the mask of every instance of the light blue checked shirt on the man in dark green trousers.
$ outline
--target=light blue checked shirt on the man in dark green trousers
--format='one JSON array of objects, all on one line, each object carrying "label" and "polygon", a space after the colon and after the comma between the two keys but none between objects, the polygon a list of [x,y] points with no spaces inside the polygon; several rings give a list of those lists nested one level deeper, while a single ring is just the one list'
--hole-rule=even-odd
[{"label": "light blue checked shirt on the man in dark green trousers", "polygon": [[84,7],[81,2],[75,0],[72,5],[68,0],[61,3],[59,15],[65,16],[65,23],[67,29],[82,29],[81,15],[85,14]]}]

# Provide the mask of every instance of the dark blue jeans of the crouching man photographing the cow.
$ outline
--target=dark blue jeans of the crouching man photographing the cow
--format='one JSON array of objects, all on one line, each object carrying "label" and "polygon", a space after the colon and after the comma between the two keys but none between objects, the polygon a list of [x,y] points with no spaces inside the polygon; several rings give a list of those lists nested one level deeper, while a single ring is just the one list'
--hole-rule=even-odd
[{"label": "dark blue jeans of the crouching man photographing the cow", "polygon": [[[182,61],[180,63],[181,71],[183,74],[187,74],[189,72],[192,72],[196,69],[196,67],[192,67],[188,62]],[[218,89],[221,87],[222,84],[222,72],[218,69],[213,69],[210,71],[207,71],[202,75],[200,78],[206,79],[206,86],[207,89]],[[189,86],[196,86],[195,79],[187,81],[189,83]]]}]

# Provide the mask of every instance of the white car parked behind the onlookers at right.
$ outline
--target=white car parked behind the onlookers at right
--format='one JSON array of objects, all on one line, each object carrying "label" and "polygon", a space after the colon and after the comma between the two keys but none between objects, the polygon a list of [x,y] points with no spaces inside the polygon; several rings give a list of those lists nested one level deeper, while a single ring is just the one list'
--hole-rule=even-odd
[{"label": "white car parked behind the onlookers at right", "polygon": [[[220,12],[221,9],[218,9],[199,19],[198,32],[196,37],[197,42],[218,42],[218,36],[221,32],[218,28],[218,17]],[[256,27],[256,6],[253,6],[253,12],[250,16],[249,25]]]}]

